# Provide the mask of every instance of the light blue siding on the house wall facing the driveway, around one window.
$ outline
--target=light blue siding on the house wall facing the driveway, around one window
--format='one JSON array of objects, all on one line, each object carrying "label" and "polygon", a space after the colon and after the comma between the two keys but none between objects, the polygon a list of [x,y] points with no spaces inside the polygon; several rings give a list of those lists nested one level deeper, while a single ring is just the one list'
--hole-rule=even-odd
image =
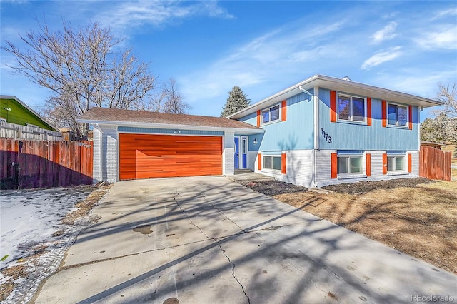
[{"label": "light blue siding on the house wall facing the driveway, around one window", "polygon": [[[287,99],[287,119],[265,126],[263,134],[248,136],[249,151],[305,150],[313,148],[314,106],[311,96],[300,93]],[[257,113],[240,119],[256,126]],[[254,139],[257,144],[254,145]]]}]

